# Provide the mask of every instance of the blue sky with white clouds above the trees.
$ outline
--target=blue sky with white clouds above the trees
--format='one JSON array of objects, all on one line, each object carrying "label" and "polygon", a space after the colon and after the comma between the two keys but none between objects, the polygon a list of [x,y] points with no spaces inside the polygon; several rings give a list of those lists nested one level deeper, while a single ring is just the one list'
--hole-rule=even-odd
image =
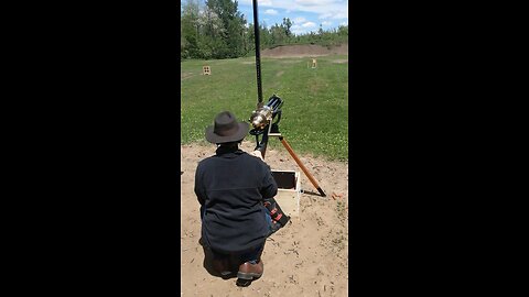
[{"label": "blue sky with white clouds above the trees", "polygon": [[[239,11],[248,23],[253,23],[252,0],[238,0]],[[283,18],[292,21],[291,31],[303,34],[348,24],[348,0],[258,0],[259,23],[268,28],[282,23]]]}]

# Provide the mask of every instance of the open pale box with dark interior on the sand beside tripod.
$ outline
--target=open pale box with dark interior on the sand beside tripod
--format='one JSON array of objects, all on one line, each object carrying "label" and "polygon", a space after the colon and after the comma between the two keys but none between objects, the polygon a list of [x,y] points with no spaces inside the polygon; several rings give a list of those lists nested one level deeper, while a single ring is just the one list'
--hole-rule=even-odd
[{"label": "open pale box with dark interior on the sand beside tripod", "polygon": [[300,216],[300,173],[292,170],[272,170],[273,179],[278,184],[276,201],[287,216]]}]

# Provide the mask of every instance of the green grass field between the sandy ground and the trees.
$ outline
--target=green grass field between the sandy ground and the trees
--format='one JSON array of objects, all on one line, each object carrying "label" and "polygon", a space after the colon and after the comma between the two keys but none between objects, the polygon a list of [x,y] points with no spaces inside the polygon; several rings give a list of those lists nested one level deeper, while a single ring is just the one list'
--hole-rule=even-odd
[{"label": "green grass field between the sandy ground and the trees", "polygon": [[[298,154],[348,160],[348,56],[261,58],[262,100],[272,94],[284,100],[280,131]],[[202,66],[212,68],[202,75]],[[215,114],[229,110],[248,121],[257,105],[255,57],[181,63],[181,143],[205,143],[204,130]],[[255,141],[251,135],[247,140]],[[270,147],[282,147],[270,140]]]}]

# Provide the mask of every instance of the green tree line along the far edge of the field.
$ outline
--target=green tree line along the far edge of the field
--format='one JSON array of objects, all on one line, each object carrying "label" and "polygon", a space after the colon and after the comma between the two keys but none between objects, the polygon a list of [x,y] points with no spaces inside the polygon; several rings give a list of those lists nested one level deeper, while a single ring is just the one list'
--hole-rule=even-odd
[{"label": "green tree line along the far edge of the field", "polygon": [[[237,58],[255,53],[253,24],[247,24],[231,0],[188,0],[181,8],[180,57],[220,59]],[[268,29],[259,24],[260,48],[288,44],[320,44],[324,46],[347,43],[348,26],[293,34],[292,21],[283,18],[281,24]]]}]

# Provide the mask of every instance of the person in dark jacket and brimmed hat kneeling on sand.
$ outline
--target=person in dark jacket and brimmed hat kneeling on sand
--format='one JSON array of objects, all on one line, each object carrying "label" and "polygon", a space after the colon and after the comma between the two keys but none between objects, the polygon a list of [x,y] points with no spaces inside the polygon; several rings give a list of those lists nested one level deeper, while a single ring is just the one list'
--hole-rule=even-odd
[{"label": "person in dark jacket and brimmed hat kneeling on sand", "polygon": [[213,253],[215,271],[222,276],[237,272],[239,279],[251,282],[262,275],[261,254],[271,228],[263,199],[273,198],[278,186],[259,151],[250,155],[239,150],[248,131],[249,124],[237,122],[229,111],[215,117],[206,140],[217,144],[216,154],[198,163],[195,194],[201,241]]}]

